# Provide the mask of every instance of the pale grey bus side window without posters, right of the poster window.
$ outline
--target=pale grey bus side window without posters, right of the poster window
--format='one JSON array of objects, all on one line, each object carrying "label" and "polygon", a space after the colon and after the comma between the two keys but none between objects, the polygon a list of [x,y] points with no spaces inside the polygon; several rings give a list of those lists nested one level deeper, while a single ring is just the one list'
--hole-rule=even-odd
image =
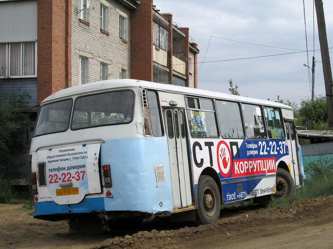
[{"label": "pale grey bus side window without posters, right of the poster window", "polygon": [[238,103],[221,100],[215,103],[222,138],[244,138]]}]

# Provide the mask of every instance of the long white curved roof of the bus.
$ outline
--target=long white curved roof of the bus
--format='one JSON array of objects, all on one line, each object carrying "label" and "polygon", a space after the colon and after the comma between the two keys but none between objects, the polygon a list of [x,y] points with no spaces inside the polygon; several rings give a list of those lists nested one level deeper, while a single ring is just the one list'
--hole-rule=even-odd
[{"label": "long white curved roof of the bus", "polygon": [[129,87],[142,87],[142,88],[156,89],[156,90],[175,92],[175,93],[181,93],[181,94],[189,94],[189,95],[196,95],[196,96],[202,96],[202,97],[221,98],[221,99],[225,99],[225,100],[240,101],[240,102],[244,102],[244,103],[257,103],[257,104],[264,104],[264,105],[292,109],[292,107],[290,107],[288,105],[269,101],[269,100],[243,97],[243,96],[237,96],[237,95],[232,95],[232,94],[227,94],[227,93],[214,92],[214,91],[208,91],[208,90],[197,89],[197,88],[190,88],[190,87],[185,87],[185,86],[161,84],[161,83],[155,83],[155,82],[149,82],[149,81],[137,80],[137,79],[103,80],[103,81],[87,83],[84,85],[72,86],[72,87],[60,90],[60,91],[48,96],[41,102],[41,104],[46,104],[47,102],[51,102],[51,101],[53,102],[58,99],[69,98],[69,97],[72,97],[75,95],[82,95],[82,94],[88,94],[88,93],[94,93],[94,92],[97,93],[97,92],[105,91],[108,89],[111,90],[111,89],[121,89],[121,88],[129,88]]}]

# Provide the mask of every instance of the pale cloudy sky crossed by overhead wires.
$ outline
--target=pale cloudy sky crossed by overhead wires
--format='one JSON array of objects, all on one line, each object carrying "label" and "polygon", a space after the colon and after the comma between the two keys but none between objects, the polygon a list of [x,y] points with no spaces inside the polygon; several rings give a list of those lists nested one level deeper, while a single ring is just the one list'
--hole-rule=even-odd
[{"label": "pale cloudy sky crossed by overhead wires", "polygon": [[[312,67],[314,56],[315,95],[325,96],[312,0],[304,0],[306,29],[303,0],[154,0],[154,5],[171,13],[174,24],[188,27],[198,44],[198,88],[230,93],[231,79],[242,96],[275,101],[279,95],[299,105],[311,98],[312,71],[303,64]],[[333,62],[333,1],[323,0],[323,6]]]}]

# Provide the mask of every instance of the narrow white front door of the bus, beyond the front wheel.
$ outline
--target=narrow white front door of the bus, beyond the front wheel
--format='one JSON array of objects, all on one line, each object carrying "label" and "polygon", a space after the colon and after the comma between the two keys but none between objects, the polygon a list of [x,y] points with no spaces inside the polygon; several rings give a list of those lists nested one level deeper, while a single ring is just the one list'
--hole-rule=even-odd
[{"label": "narrow white front door of the bus, beyond the front wheel", "polygon": [[299,167],[297,159],[297,135],[295,131],[295,123],[293,121],[285,121],[286,132],[287,132],[287,141],[289,148],[289,157],[290,157],[290,174],[294,178],[295,186],[299,185]]}]

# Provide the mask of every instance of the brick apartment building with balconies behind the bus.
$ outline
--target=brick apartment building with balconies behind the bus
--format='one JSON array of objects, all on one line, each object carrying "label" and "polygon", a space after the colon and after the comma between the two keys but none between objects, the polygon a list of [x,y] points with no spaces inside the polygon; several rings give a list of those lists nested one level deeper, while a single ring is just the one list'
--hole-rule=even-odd
[{"label": "brick apartment building with balconies behind the bus", "polygon": [[197,44],[153,0],[0,0],[0,23],[0,93],[28,92],[35,113],[52,93],[104,79],[197,87]]}]

